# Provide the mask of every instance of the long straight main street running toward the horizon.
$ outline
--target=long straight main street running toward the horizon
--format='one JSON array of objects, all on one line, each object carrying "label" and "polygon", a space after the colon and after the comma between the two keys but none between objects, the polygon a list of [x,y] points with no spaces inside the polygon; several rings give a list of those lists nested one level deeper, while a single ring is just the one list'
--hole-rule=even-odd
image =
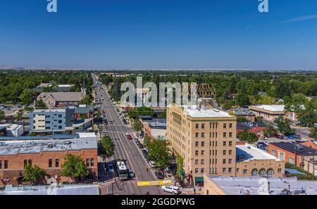
[{"label": "long straight main street running toward the horizon", "polygon": [[[97,82],[97,76],[92,74],[94,82]],[[135,132],[132,128],[124,125],[122,120],[118,117],[116,107],[111,103],[106,90],[104,88],[97,87],[94,89],[97,95],[101,95],[102,108],[106,110],[106,115],[109,121],[113,121],[106,126],[103,125],[103,129],[108,133],[108,136],[113,139],[113,143],[116,145],[113,160],[127,160],[128,168],[135,172],[135,180],[129,180],[123,182],[124,184],[115,184],[114,186],[108,186],[106,189],[107,194],[166,194],[161,191],[159,186],[137,186],[137,181],[154,181],[156,177],[154,170],[151,170],[147,164],[147,161],[142,156],[142,152],[139,147],[135,144],[134,139],[129,140],[125,136],[126,132],[129,132],[132,136],[135,136]],[[148,168],[148,171],[147,171]],[[115,174],[111,174],[108,178],[115,177]]]}]

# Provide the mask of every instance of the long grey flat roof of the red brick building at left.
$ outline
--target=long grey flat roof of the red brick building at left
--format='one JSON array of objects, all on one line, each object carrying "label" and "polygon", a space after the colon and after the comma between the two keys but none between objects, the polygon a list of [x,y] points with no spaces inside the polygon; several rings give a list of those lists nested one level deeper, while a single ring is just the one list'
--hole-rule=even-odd
[{"label": "long grey flat roof of the red brick building at left", "polygon": [[0,156],[54,151],[97,149],[97,137],[0,142]]}]

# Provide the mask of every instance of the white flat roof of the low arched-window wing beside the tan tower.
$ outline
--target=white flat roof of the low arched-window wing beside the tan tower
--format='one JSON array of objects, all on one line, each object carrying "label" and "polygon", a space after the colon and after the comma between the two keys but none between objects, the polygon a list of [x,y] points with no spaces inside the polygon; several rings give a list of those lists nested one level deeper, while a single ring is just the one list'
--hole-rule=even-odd
[{"label": "white flat roof of the low arched-window wing beside the tan tower", "polygon": [[250,144],[236,145],[237,163],[246,162],[250,160],[276,160],[280,161],[279,158],[272,156],[270,153],[261,150]]}]

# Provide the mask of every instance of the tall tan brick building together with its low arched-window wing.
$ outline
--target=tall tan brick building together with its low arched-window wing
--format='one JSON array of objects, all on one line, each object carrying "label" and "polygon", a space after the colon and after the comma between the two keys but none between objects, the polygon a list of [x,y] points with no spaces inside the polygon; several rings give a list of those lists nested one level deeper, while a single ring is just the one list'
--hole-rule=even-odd
[{"label": "tall tan brick building together with its low arched-window wing", "polygon": [[[206,107],[206,106],[205,106]],[[205,175],[283,177],[285,162],[244,141],[237,142],[236,118],[204,106],[167,108],[166,137],[183,158],[194,182]]]}]

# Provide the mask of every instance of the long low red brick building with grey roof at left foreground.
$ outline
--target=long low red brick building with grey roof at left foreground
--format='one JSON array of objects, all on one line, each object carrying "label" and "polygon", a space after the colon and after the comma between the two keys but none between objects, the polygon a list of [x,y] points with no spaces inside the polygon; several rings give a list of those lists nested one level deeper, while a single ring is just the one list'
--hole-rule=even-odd
[{"label": "long low red brick building with grey roof at left foreground", "polygon": [[[37,165],[45,170],[47,177],[61,177],[64,158],[68,154],[80,156],[89,170],[89,179],[97,180],[97,138],[55,139],[22,142],[1,142],[0,184],[10,179],[9,184],[18,184],[26,165]],[[61,182],[71,179],[62,177]]]}]

